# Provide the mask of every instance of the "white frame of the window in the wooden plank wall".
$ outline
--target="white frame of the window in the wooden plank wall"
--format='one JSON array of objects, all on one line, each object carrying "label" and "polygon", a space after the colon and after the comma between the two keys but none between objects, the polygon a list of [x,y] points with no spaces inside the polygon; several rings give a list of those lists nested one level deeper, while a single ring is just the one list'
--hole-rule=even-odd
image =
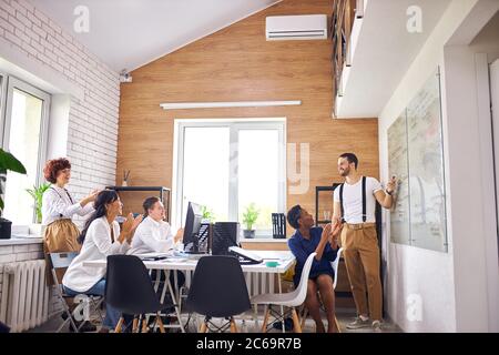
[{"label": "white frame of the window in the wooden plank wall", "polygon": [[[184,140],[186,128],[228,128],[230,130],[230,179],[228,179],[228,221],[238,221],[238,176],[235,166],[238,154],[234,154],[241,130],[277,130],[278,131],[278,164],[277,210],[285,213],[286,209],[286,118],[269,119],[176,119],[174,120],[174,151],[172,179],[172,225],[182,226],[183,210],[183,173],[184,173]],[[227,156],[228,159],[228,156]],[[234,173],[235,176],[233,175]],[[235,178],[235,179],[234,179]],[[272,236],[271,230],[256,231],[257,236]]]}]

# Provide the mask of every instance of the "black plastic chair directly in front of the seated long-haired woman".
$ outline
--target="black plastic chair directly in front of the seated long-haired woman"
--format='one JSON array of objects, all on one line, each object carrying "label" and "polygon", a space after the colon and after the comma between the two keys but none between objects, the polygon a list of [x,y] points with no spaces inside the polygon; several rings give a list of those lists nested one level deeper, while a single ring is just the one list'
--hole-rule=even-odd
[{"label": "black plastic chair directly in front of the seated long-haired woman", "polygon": [[[122,314],[115,328],[116,333],[122,332],[123,314],[133,315],[132,332],[138,332],[139,317],[147,313],[156,314],[160,331],[164,333],[160,312],[174,306],[172,303],[160,302],[144,263],[133,255],[108,256],[105,302]],[[146,329],[145,317],[142,329]]]}]

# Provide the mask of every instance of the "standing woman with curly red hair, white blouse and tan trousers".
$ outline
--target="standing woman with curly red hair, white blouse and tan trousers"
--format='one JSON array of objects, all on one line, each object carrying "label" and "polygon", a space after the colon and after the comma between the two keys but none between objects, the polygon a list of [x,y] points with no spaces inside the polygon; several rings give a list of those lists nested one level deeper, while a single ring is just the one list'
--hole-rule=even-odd
[{"label": "standing woman with curly red hair, white blouse and tan trousers", "polygon": [[45,180],[52,183],[42,197],[42,223],[47,225],[43,240],[47,253],[78,252],[80,231],[72,222],[74,214],[84,216],[93,211],[92,202],[99,191],[75,202],[65,185],[71,178],[71,163],[64,158],[49,160],[43,169]]}]

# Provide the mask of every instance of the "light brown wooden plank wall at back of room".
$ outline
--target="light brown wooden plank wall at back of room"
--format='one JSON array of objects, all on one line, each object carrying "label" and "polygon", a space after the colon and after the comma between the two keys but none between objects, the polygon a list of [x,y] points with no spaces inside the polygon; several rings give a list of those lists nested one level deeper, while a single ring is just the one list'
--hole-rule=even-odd
[{"label": "light brown wooden plank wall at back of room", "polygon": [[[288,192],[287,207],[299,203],[314,213],[315,186],[340,181],[336,161],[346,151],[359,156],[361,173],[378,178],[377,120],[332,119],[332,41],[265,40],[267,16],[326,13],[330,20],[332,9],[332,0],[284,0],[134,70],[133,82],[121,85],[116,184],[121,184],[123,170],[131,170],[133,185],[172,187],[173,120],[190,118],[286,116],[287,142],[310,148],[309,189],[299,195]],[[162,102],[251,100],[303,103],[160,108]]]}]

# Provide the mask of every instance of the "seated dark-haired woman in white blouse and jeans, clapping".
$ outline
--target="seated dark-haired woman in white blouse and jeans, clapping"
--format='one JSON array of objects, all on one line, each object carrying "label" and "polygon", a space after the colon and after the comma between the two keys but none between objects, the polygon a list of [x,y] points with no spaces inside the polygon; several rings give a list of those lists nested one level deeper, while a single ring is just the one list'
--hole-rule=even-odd
[{"label": "seated dark-haired woman in white blouse and jeans, clapping", "polygon": [[[86,221],[79,237],[81,252],[62,278],[62,285],[69,295],[104,295],[105,267],[89,267],[83,266],[83,263],[105,261],[108,255],[125,254],[133,232],[142,221],[142,215],[133,219],[130,213],[120,232],[120,225],[114,220],[122,213],[122,203],[118,193],[112,190],[101,191],[95,197],[94,207],[95,212]],[[103,328],[114,328],[119,318],[120,313],[106,305]]]}]

